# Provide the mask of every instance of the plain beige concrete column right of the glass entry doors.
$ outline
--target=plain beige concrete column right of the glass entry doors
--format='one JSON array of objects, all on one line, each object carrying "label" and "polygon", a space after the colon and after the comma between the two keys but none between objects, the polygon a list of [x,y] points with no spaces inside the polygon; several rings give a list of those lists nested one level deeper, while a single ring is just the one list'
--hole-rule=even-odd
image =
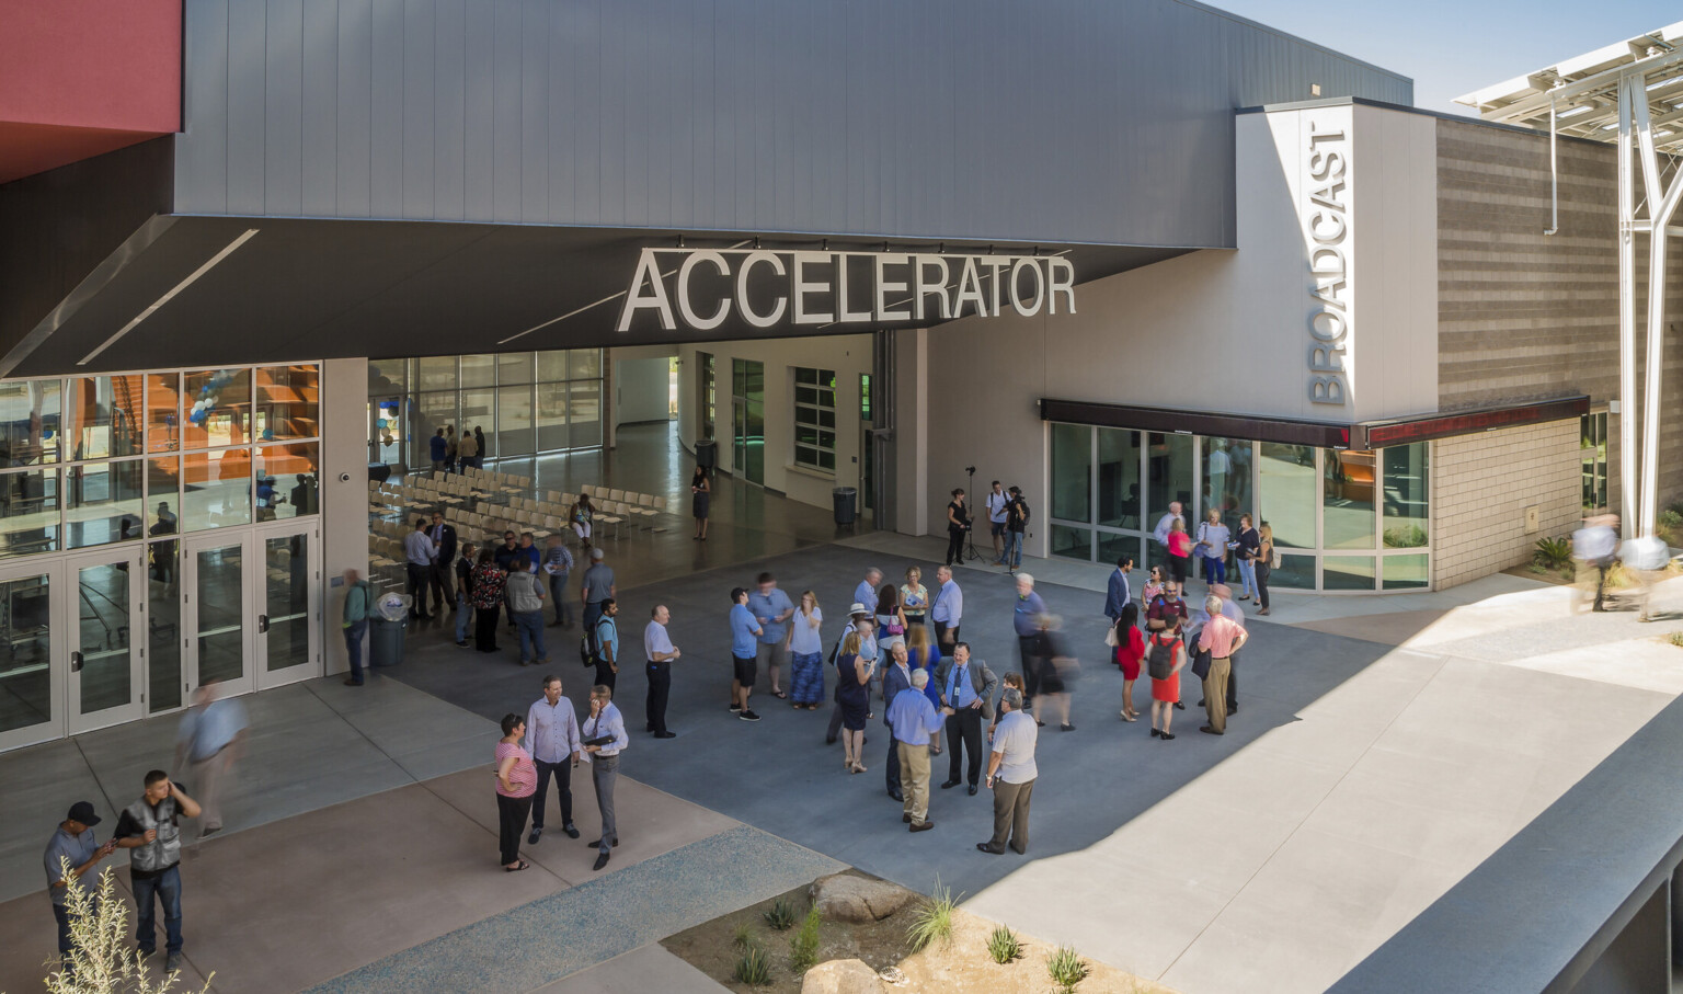
[{"label": "plain beige concrete column right of the glass entry doors", "polygon": [[328,359],[321,364],[321,637],[327,672],[350,669],[340,617],[345,588],[340,576],[369,576],[369,361]]}]

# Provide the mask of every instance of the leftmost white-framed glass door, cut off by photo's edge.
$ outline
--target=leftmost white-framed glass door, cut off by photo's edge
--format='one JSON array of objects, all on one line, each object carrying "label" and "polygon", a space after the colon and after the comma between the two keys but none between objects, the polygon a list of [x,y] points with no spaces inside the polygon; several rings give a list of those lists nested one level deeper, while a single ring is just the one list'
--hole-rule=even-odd
[{"label": "leftmost white-framed glass door, cut off by photo's edge", "polygon": [[52,667],[62,630],[52,620],[57,586],[42,564],[0,571],[0,750],[59,736],[64,691]]}]

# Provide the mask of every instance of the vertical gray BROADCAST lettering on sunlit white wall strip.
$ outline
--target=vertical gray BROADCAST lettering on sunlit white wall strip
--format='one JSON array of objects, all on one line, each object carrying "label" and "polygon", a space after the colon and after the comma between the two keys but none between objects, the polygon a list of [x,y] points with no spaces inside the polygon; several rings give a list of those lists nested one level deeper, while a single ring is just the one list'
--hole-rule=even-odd
[{"label": "vertical gray BROADCAST lettering on sunlit white wall strip", "polygon": [[1355,357],[1355,251],[1350,108],[1299,118],[1298,204],[1303,221],[1308,391],[1314,404],[1350,406]]}]

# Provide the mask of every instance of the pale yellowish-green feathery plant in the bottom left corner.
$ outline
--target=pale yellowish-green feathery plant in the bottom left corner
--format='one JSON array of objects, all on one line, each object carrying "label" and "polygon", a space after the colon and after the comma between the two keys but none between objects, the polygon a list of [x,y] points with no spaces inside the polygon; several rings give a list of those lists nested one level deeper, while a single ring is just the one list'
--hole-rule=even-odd
[{"label": "pale yellowish-green feathery plant in the bottom left corner", "polygon": [[[64,876],[71,876],[71,861],[62,864]],[[128,947],[128,903],[116,893],[111,868],[99,874],[98,891],[71,886],[64,905],[71,911],[71,962],[64,969],[57,957],[49,960],[54,967],[47,974],[49,994],[167,994],[175,989],[178,972],[153,982],[140,950]],[[200,994],[210,989],[210,977],[205,977]]]}]

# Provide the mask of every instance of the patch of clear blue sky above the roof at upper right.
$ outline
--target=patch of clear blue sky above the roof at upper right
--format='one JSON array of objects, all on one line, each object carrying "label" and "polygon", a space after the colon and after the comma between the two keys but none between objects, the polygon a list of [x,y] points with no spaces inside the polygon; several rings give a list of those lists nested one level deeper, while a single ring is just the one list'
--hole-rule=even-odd
[{"label": "patch of clear blue sky above the roof at upper right", "polygon": [[1454,98],[1683,20],[1676,0],[1205,0],[1414,77],[1414,104]]}]

